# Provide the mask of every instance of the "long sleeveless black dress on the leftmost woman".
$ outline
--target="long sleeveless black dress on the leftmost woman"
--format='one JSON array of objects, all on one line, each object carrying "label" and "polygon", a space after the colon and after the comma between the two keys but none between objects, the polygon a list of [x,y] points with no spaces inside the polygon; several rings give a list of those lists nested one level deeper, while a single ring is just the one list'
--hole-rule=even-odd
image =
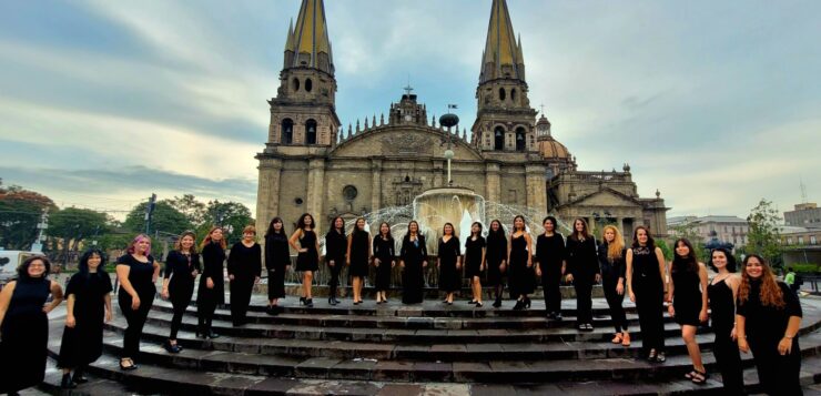
[{"label": "long sleeveless black dress on the leftmost woman", "polygon": [[49,319],[43,312],[51,293],[45,277],[18,280],[3,318],[0,342],[0,393],[11,393],[42,383]]}]

